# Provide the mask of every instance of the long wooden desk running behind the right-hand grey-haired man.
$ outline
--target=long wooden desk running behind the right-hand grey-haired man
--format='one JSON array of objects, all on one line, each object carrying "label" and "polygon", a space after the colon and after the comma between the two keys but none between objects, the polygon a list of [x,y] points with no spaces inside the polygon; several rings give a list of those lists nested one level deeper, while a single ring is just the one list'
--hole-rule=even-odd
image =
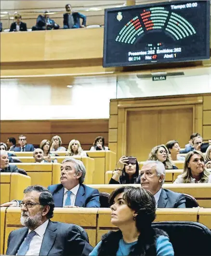
[{"label": "long wooden desk running behind the right-hand grey-haired man", "polygon": [[[127,184],[126,184],[127,185]],[[139,184],[131,184],[132,186],[141,186]],[[89,185],[99,192],[111,193],[114,189],[123,185]],[[199,184],[164,184],[163,188],[170,189],[174,192],[190,194],[197,199],[200,207],[211,208],[211,184],[199,183]]]}]

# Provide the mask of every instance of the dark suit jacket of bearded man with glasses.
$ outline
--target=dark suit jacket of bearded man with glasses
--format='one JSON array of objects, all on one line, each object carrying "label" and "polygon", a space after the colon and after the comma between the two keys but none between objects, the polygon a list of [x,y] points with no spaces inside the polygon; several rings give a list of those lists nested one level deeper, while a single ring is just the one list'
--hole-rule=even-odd
[{"label": "dark suit jacket of bearded man with glasses", "polygon": [[[43,236],[40,255],[89,255],[93,247],[85,241],[81,227],[49,221]],[[28,233],[28,228],[13,230],[8,237],[6,255],[15,255]]]}]

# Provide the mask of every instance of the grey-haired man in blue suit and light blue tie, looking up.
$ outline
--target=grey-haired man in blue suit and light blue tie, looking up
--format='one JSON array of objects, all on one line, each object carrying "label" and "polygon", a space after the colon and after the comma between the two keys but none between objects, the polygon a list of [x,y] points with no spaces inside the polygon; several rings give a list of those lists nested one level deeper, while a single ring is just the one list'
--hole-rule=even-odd
[{"label": "grey-haired man in blue suit and light blue tie, looking up", "polygon": [[[99,191],[83,185],[86,168],[82,161],[72,157],[66,157],[61,165],[61,184],[50,185],[48,190],[53,195],[55,207],[100,207]],[[19,206],[18,200],[6,202],[0,205]]]}]

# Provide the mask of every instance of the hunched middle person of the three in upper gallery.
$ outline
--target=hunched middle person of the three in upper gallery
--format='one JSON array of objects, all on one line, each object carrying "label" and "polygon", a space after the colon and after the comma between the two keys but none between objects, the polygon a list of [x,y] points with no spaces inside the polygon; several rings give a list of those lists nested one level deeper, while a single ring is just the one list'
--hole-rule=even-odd
[{"label": "hunched middle person of the three in upper gallery", "polygon": [[51,29],[59,29],[59,25],[55,23],[53,19],[50,19],[49,11],[46,10],[43,15],[39,15],[37,18],[36,26],[31,28],[34,30],[51,30]]}]

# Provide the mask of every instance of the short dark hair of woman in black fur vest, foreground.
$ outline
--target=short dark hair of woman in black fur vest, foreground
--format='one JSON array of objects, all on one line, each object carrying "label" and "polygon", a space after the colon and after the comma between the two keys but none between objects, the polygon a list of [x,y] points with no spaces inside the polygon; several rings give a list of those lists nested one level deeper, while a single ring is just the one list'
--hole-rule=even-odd
[{"label": "short dark hair of woman in black fur vest, foreground", "polygon": [[156,201],[154,196],[142,187],[121,186],[115,189],[109,196],[110,206],[117,195],[124,193],[123,199],[129,208],[138,215],[135,217],[136,228],[147,232],[156,218]]}]

